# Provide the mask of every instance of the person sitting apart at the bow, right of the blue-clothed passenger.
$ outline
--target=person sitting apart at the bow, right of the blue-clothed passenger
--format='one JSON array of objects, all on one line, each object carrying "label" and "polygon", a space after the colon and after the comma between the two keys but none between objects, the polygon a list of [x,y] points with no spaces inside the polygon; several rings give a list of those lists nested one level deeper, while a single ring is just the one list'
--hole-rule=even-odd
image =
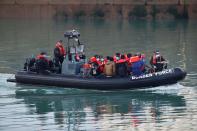
[{"label": "person sitting apart at the bow, right of the blue-clothed passenger", "polygon": [[154,51],[154,54],[150,59],[150,64],[154,68],[155,72],[167,69],[167,61],[163,58],[159,51]]}]

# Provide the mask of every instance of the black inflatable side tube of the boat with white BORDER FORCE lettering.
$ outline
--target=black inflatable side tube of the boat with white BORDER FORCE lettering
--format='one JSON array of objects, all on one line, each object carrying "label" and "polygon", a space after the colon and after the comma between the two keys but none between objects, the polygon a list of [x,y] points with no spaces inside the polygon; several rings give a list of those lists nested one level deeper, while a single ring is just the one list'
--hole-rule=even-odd
[{"label": "black inflatable side tube of the boat with white BORDER FORCE lettering", "polygon": [[116,90],[173,84],[184,79],[185,76],[186,72],[180,68],[168,69],[154,74],[145,74],[139,77],[100,79],[58,74],[40,75],[32,72],[19,71],[15,75],[15,80],[17,83],[59,86],[63,88]]}]

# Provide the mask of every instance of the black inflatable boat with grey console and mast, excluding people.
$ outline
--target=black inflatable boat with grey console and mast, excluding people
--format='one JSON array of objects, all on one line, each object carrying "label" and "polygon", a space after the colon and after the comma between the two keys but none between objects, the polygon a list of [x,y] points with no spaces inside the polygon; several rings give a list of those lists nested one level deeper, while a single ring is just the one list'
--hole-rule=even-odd
[{"label": "black inflatable boat with grey console and mast, excluding people", "polygon": [[[67,31],[64,36],[68,38],[67,52],[74,56],[84,54],[84,45],[79,41],[79,32],[76,30]],[[70,46],[69,41],[76,39],[77,45]],[[19,71],[15,74],[15,79],[8,79],[9,82],[39,84],[48,86],[59,86],[64,88],[116,90],[116,89],[136,89],[144,87],[154,87],[166,84],[173,84],[185,78],[186,72],[180,68],[166,69],[161,72],[144,74],[141,76],[130,76],[126,78],[83,78],[80,75],[80,67],[85,63],[82,61],[69,60],[68,55],[64,58],[61,66],[61,74],[49,73],[42,75],[36,72]]]}]

